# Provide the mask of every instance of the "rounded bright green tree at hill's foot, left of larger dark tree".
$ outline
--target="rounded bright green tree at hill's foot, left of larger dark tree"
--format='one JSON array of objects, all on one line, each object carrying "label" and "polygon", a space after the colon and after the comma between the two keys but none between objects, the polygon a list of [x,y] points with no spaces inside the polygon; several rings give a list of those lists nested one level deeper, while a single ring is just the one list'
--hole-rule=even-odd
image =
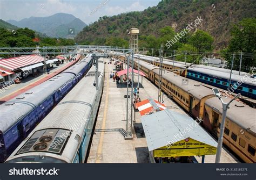
[{"label": "rounded bright green tree at hill's foot, left of larger dark tree", "polygon": [[213,49],[213,37],[205,31],[197,30],[188,40],[188,43],[198,49],[199,52],[209,52]]}]

